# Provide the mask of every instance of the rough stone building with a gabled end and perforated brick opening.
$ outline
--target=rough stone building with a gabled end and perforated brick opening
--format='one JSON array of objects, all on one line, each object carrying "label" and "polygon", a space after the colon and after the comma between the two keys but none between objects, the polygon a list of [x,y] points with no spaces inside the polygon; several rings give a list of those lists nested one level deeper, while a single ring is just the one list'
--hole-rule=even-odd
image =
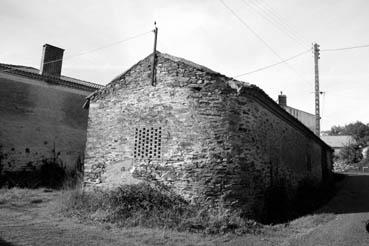
[{"label": "rough stone building with a gabled end and perforated brick opening", "polygon": [[263,90],[150,55],[88,97],[86,189],[142,180],[260,215],[266,191],[328,179],[331,148]]}]

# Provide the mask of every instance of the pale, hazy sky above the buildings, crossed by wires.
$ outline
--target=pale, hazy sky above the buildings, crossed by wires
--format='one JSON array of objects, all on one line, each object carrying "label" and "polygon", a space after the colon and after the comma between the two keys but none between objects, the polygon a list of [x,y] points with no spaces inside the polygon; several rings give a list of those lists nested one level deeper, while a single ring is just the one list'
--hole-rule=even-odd
[{"label": "pale, hazy sky above the buildings, crossed by wires", "polygon": [[[65,49],[62,74],[105,85],[153,50],[255,84],[314,113],[312,43],[321,48],[321,128],[369,123],[366,0],[0,0],[0,62],[39,68]],[[310,49],[310,50],[309,50]]]}]

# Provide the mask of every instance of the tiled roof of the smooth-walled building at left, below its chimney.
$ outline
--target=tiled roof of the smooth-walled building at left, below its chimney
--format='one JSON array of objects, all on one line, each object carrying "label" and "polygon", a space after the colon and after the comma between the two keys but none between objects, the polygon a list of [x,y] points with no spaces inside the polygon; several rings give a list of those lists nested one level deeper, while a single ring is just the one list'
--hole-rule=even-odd
[{"label": "tiled roof of the smooth-walled building at left, below its chimney", "polygon": [[37,68],[27,67],[27,66],[0,63],[0,72],[16,74],[16,75],[20,75],[20,76],[24,76],[24,77],[28,77],[32,79],[43,80],[49,83],[54,83],[54,84],[58,84],[58,85],[66,86],[66,87],[72,87],[72,88],[82,89],[82,90],[91,91],[91,92],[104,87],[99,84],[67,77],[64,75],[61,75],[60,77],[41,75]]}]

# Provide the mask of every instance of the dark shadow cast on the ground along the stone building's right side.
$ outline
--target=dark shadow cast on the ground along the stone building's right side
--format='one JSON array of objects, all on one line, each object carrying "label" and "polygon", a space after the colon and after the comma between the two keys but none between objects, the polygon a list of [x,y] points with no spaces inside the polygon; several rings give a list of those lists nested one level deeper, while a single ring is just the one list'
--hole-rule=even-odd
[{"label": "dark shadow cast on the ground along the stone building's right side", "polygon": [[263,224],[280,224],[309,214],[349,214],[369,212],[369,174],[334,173],[331,182],[315,187],[302,182],[293,199],[283,186],[273,187]]}]

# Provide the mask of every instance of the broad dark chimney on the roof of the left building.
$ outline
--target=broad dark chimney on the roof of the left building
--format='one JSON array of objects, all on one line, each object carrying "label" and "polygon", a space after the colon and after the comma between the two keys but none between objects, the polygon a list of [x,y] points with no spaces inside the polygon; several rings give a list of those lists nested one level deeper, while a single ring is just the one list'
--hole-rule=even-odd
[{"label": "broad dark chimney on the roof of the left building", "polygon": [[44,44],[42,49],[40,74],[59,77],[63,63],[64,50],[50,44]]}]

